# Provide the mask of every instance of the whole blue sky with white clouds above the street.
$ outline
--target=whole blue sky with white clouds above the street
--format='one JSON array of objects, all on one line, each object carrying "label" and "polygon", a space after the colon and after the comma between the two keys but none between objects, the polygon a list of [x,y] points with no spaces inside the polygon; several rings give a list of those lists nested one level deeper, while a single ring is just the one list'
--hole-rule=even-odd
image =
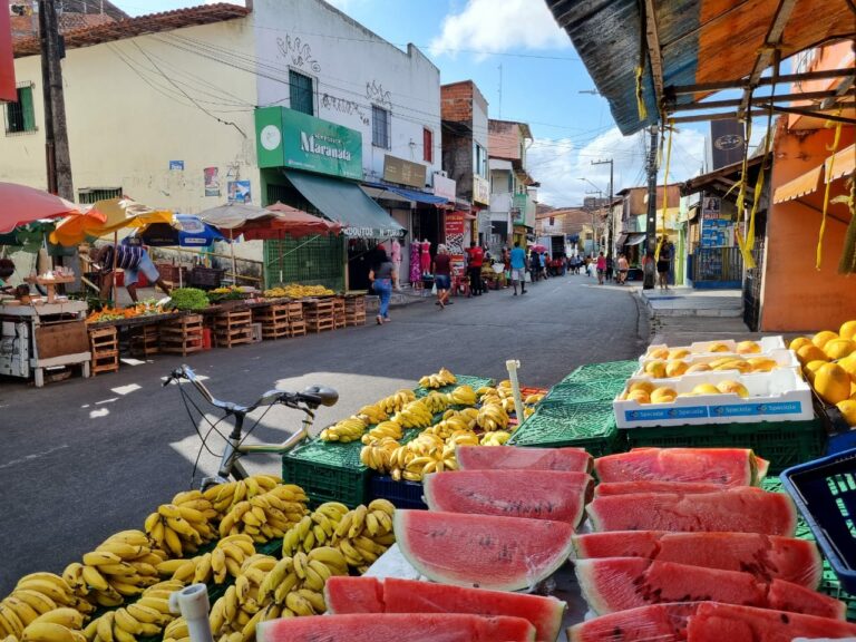
[{"label": "whole blue sky with white clouds above the street", "polygon": [[[528,123],[534,140],[529,174],[538,201],[580,205],[610,187],[643,185],[645,142],[624,137],[606,100],[543,0],[328,0],[386,40],[412,42],[440,69],[440,81],[471,79],[492,118]],[[132,16],[200,4],[200,0],[113,0]],[[395,10],[390,10],[395,8]],[[675,134],[669,181],[701,173],[708,125]],[[662,181],[662,172],[660,179]]]}]

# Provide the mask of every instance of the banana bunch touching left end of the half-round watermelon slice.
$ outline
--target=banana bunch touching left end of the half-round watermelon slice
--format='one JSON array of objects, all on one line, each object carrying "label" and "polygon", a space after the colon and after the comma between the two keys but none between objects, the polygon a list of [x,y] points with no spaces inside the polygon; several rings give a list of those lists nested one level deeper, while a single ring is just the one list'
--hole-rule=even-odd
[{"label": "banana bunch touching left end of the half-round watermelon slice", "polygon": [[396,542],[392,516],[396,507],[387,499],[349,510],[335,527],[332,546],[339,548],[348,566],[362,574]]}]

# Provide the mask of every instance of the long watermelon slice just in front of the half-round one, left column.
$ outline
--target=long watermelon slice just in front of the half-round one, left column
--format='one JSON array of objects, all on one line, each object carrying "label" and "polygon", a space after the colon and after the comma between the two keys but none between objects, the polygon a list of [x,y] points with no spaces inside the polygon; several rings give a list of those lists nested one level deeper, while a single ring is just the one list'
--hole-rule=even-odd
[{"label": "long watermelon slice just in front of the half-round one, left column", "polygon": [[466,588],[388,577],[333,576],[324,585],[329,613],[470,613],[528,620],[535,639],[558,638],[565,603],[555,597]]}]

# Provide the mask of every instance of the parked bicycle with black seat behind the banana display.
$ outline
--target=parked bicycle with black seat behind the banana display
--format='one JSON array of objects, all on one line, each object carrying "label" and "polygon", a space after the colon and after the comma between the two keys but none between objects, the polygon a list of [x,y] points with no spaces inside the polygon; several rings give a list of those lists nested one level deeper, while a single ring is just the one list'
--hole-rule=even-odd
[{"label": "parked bicycle with black seat behind the banana display", "polygon": [[[223,450],[223,454],[220,456],[220,467],[217,469],[217,474],[213,477],[203,477],[202,483],[200,484],[200,489],[205,490],[206,488],[217,485],[217,484],[224,484],[228,481],[230,476],[233,479],[240,480],[240,479],[246,479],[247,471],[244,468],[243,464],[241,464],[240,459],[244,455],[253,455],[253,454],[269,454],[269,455],[284,455],[285,453],[292,450],[295,446],[304,441],[309,438],[310,429],[312,428],[312,422],[314,421],[315,414],[314,411],[320,406],[334,406],[335,402],[339,400],[339,392],[333,390],[332,388],[328,388],[325,386],[310,386],[309,388],[305,388],[302,392],[288,392],[284,390],[268,390],[264,395],[262,395],[256,401],[251,403],[250,406],[242,406],[240,403],[235,403],[232,401],[221,401],[220,399],[216,399],[211,391],[205,387],[205,385],[196,377],[196,373],[188,367],[188,366],[182,366],[181,368],[176,368],[173,370],[169,376],[166,378],[166,381],[164,381],[164,387],[168,386],[173,381],[176,382],[176,386],[178,387],[178,390],[182,395],[182,400],[184,401],[185,409],[187,410],[188,416],[193,420],[193,414],[191,412],[188,403],[193,405],[193,407],[200,412],[200,415],[204,416],[204,412],[200,409],[198,406],[196,406],[193,400],[191,400],[187,392],[184,390],[184,386],[181,385],[181,380],[187,380],[198,390],[198,392],[203,396],[203,398],[214,406],[215,408],[218,408],[223,411],[225,411],[225,415],[216,422],[211,424],[208,420],[208,424],[211,428],[208,429],[208,432],[203,437],[203,435],[200,432],[198,427],[196,428],[197,434],[200,435],[200,438],[202,439],[202,446],[200,447],[200,455],[202,455],[202,449],[208,449],[207,448],[207,438],[211,435],[211,431],[216,431],[223,439],[225,440],[225,448]],[[243,427],[244,427],[244,420],[246,419],[246,416],[252,412],[253,410],[256,410],[257,408],[261,408],[263,406],[268,406],[269,410],[271,407],[275,405],[282,405],[286,406],[289,408],[293,408],[295,410],[302,410],[304,412],[303,421],[301,424],[300,430],[291,435],[288,439],[285,439],[282,444],[244,444],[244,439],[253,431],[253,429],[259,425],[259,422],[264,418],[265,412],[255,421],[255,424],[245,432],[242,435]],[[223,421],[224,419],[227,419],[230,417],[234,418],[234,425],[232,426],[232,431],[226,437],[217,430],[217,424],[220,421]],[[207,420],[207,419],[206,419]],[[212,453],[211,449],[208,449],[208,453]],[[212,455],[215,455],[212,453]],[[198,463],[198,456],[197,456],[197,463]],[[196,475],[196,465],[194,465],[194,477]]]}]

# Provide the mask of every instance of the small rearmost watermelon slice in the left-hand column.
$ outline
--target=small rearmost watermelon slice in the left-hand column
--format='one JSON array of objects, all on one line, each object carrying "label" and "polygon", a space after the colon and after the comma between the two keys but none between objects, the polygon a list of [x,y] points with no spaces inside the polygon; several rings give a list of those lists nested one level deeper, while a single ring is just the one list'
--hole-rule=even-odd
[{"label": "small rearmost watermelon slice in the left-hand column", "polygon": [[521,468],[590,473],[592,456],[582,448],[525,448],[522,446],[458,446],[461,470]]}]

